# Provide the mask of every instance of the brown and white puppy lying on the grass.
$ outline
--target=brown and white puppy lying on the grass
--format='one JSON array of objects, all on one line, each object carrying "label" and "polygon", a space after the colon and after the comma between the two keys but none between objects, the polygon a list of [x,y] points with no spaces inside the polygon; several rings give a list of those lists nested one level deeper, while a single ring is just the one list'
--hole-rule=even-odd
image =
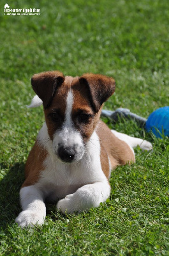
[{"label": "brown and white puppy lying on the grass", "polygon": [[62,213],[98,207],[110,196],[111,170],[135,161],[133,148],[151,150],[148,141],[110,131],[99,116],[115,91],[111,77],[59,71],[35,74],[31,107],[43,103],[45,123],[26,163],[20,189],[20,227],[43,224],[45,200],[57,201]]}]

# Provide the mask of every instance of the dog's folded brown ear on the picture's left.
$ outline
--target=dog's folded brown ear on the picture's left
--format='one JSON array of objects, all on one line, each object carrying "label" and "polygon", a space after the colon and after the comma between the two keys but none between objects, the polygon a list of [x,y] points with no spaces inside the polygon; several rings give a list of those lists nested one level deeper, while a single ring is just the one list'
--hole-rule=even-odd
[{"label": "dog's folded brown ear on the picture's left", "polygon": [[64,76],[59,71],[41,72],[31,78],[33,90],[42,100],[44,109],[50,106],[57,88],[63,82]]}]

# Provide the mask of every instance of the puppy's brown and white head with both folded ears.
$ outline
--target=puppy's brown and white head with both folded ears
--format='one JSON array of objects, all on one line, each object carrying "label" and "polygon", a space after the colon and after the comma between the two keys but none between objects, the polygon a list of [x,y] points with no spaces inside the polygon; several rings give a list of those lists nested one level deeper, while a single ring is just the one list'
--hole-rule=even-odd
[{"label": "puppy's brown and white head with both folded ears", "polygon": [[51,71],[35,74],[31,83],[43,102],[54,153],[64,163],[80,160],[103,103],[115,91],[114,79],[94,74],[70,77]]}]

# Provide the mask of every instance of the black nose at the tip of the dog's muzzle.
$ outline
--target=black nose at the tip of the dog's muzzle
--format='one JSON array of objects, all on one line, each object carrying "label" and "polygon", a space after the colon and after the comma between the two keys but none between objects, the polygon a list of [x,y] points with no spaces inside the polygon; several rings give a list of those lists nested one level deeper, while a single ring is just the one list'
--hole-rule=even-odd
[{"label": "black nose at the tip of the dog's muzzle", "polygon": [[73,150],[71,147],[59,147],[58,156],[63,162],[71,163],[75,158],[75,150]]}]

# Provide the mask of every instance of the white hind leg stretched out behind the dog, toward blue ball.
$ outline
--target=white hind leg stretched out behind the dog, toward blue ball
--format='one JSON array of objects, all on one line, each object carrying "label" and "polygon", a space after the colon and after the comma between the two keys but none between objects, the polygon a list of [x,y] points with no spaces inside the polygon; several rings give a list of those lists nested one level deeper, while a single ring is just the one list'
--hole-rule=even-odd
[{"label": "white hind leg stretched out behind the dog, toward blue ball", "polygon": [[147,140],[131,137],[129,135],[126,135],[121,132],[117,132],[115,130],[111,130],[111,131],[117,138],[119,138],[119,140],[126,142],[131,148],[136,148],[137,146],[139,146],[142,150],[147,150],[147,151],[152,150],[152,144]]}]

